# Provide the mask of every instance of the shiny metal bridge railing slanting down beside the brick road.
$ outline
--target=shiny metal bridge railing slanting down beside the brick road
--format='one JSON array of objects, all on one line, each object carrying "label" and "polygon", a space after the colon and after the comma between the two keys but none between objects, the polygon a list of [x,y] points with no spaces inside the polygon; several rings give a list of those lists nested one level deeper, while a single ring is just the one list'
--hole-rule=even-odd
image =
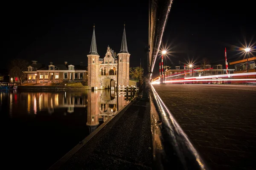
[{"label": "shiny metal bridge railing slanting down beside the brick road", "polygon": [[155,169],[207,170],[197,150],[151,83],[149,88]]}]

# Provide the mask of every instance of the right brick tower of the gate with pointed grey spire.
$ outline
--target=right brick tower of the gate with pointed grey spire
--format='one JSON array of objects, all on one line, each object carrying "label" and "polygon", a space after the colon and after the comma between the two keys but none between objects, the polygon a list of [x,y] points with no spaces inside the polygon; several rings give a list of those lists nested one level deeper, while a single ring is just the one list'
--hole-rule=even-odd
[{"label": "right brick tower of the gate with pointed grey spire", "polygon": [[121,50],[117,54],[118,56],[118,70],[117,70],[117,85],[125,85],[129,84],[129,63],[130,63],[130,55],[127,49],[125,28],[122,37],[122,45]]}]

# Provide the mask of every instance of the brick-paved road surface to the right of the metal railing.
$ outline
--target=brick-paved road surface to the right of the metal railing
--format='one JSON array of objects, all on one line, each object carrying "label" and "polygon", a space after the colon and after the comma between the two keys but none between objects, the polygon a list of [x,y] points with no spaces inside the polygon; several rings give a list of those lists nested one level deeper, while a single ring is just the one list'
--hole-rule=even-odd
[{"label": "brick-paved road surface to the right of the metal railing", "polygon": [[154,88],[211,169],[256,169],[256,86]]}]

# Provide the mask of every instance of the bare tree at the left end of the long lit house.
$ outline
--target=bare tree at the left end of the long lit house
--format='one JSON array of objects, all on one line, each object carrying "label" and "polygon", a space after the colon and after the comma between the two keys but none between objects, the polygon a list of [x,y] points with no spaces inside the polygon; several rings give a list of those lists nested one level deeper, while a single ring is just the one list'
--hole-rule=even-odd
[{"label": "bare tree at the left end of the long lit house", "polygon": [[28,65],[29,62],[27,62],[25,59],[14,59],[11,61],[11,71],[13,74],[17,75],[18,79],[20,80],[20,85],[22,85],[25,78],[23,71],[27,71]]}]

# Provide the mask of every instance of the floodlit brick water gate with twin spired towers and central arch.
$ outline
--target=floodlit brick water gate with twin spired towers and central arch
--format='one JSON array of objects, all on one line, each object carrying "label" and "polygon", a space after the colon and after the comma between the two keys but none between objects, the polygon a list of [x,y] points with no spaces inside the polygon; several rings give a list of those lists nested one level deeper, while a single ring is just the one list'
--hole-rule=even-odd
[{"label": "floodlit brick water gate with twin spired towers and central arch", "polygon": [[90,89],[114,89],[129,83],[129,59],[125,28],[120,52],[116,55],[109,47],[103,59],[99,58],[96,46],[95,30],[88,57],[88,86]]}]

